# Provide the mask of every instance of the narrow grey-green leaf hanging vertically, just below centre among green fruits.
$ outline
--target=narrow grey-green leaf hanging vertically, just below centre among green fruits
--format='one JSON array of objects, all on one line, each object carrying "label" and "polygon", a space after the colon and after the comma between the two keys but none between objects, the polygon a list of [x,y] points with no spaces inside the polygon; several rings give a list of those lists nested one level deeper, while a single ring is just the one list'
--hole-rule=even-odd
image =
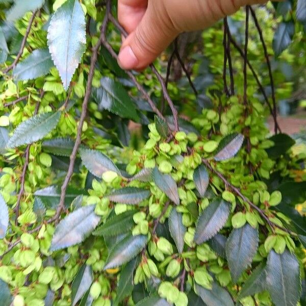
[{"label": "narrow grey-green leaf hanging vertically, just below centre among green fruits", "polygon": [[181,254],[184,248],[184,235],[186,233],[186,227],[183,224],[183,216],[178,213],[175,208],[172,208],[169,216],[169,230],[171,237],[173,238],[177,250]]}]

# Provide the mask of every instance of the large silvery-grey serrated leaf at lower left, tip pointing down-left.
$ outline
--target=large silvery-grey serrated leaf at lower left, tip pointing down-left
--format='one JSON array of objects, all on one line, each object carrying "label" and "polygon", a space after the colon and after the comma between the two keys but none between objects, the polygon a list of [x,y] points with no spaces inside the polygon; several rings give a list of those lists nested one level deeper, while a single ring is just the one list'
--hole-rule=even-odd
[{"label": "large silvery-grey serrated leaf at lower left, tip pointing down-left", "polygon": [[78,244],[92,233],[100,217],[94,213],[95,205],[81,207],[67,215],[56,226],[50,251]]}]

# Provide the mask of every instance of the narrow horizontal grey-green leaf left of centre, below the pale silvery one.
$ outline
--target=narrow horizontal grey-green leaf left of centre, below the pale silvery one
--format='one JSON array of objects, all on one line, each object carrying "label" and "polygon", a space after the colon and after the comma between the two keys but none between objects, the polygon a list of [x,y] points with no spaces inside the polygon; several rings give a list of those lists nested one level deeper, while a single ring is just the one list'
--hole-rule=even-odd
[{"label": "narrow horizontal grey-green leaf left of centre, below the pale silvery one", "polygon": [[151,195],[150,190],[137,187],[114,189],[107,197],[117,203],[138,204]]}]

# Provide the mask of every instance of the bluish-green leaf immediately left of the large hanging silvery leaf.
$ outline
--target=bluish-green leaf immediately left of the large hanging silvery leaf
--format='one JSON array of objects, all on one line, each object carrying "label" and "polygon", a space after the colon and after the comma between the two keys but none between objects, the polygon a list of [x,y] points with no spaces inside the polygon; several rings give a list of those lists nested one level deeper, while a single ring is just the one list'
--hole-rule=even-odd
[{"label": "bluish-green leaf immediately left of the large hanging silvery leaf", "polygon": [[13,78],[16,81],[33,80],[45,75],[53,67],[49,50],[34,50],[23,62],[19,62],[13,69]]}]

